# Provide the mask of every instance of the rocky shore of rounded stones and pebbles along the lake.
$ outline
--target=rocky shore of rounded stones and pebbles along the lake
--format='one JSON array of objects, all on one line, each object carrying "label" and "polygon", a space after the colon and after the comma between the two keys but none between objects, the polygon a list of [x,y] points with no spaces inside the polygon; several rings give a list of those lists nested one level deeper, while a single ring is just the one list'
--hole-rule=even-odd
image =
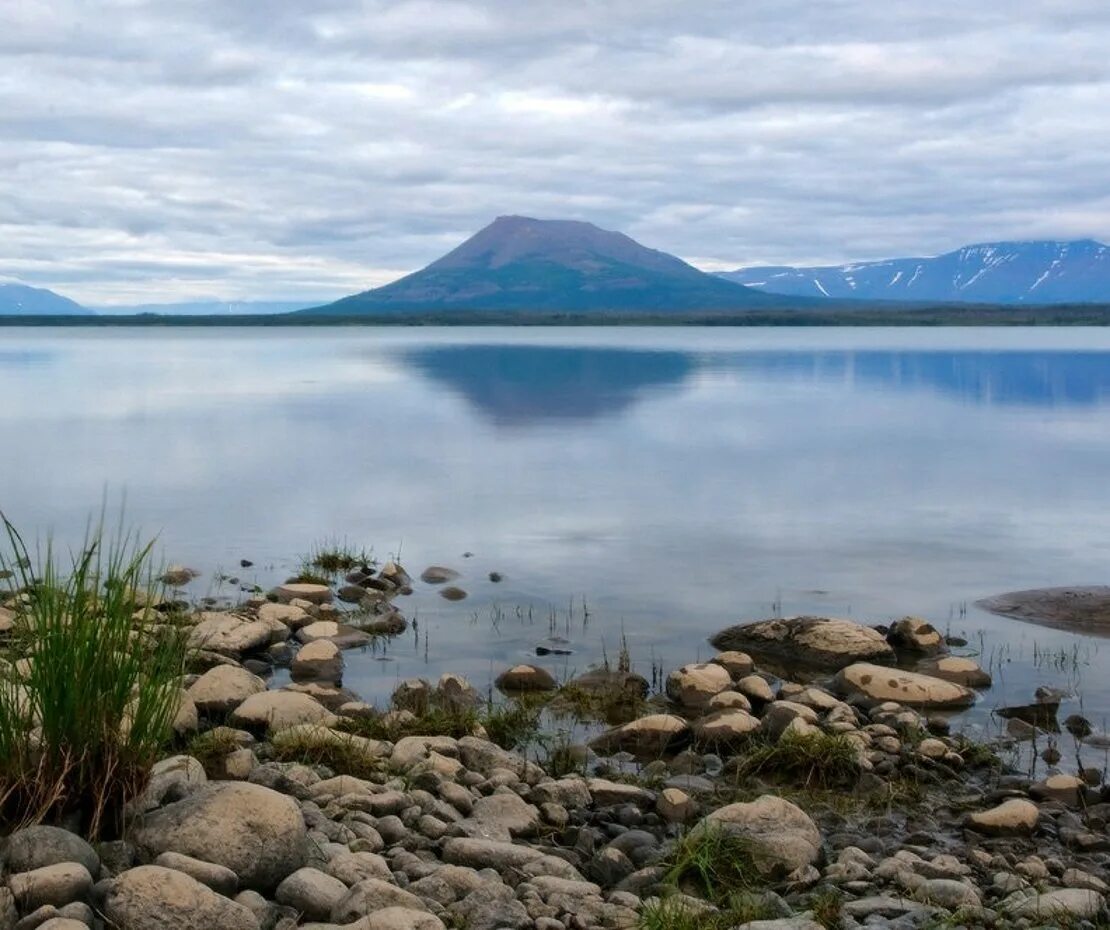
[{"label": "rocky shore of rounded stones and pebbles along the lake", "polygon": [[3,838],[0,930],[1108,926],[1103,772],[1035,781],[953,736],[989,676],[922,620],[734,627],[656,695],[622,656],[562,684],[506,668],[496,701],[410,679],[374,708],[344,651],[404,628],[411,584],[391,563],[140,605],[192,647],[176,745],[119,836]]}]

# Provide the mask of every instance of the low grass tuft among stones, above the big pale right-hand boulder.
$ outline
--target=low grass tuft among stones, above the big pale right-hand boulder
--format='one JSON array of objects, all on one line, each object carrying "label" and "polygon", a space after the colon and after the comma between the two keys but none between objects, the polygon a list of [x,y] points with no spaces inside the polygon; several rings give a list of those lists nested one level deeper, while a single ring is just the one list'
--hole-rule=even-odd
[{"label": "low grass tuft among stones, above the big pale right-hand boulder", "polygon": [[859,750],[840,734],[786,732],[769,742],[753,740],[737,758],[736,771],[744,776],[771,776],[804,788],[837,788],[859,777]]}]

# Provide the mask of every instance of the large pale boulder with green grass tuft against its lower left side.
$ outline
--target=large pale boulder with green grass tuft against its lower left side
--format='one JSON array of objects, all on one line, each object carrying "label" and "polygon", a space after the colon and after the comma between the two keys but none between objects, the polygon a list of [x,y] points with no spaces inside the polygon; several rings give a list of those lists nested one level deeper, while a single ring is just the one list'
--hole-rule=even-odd
[{"label": "large pale boulder with green grass tuft against its lower left side", "polygon": [[703,818],[695,830],[723,828],[751,843],[754,865],[768,878],[816,865],[821,857],[817,825],[796,805],[773,795],[733,803]]}]

